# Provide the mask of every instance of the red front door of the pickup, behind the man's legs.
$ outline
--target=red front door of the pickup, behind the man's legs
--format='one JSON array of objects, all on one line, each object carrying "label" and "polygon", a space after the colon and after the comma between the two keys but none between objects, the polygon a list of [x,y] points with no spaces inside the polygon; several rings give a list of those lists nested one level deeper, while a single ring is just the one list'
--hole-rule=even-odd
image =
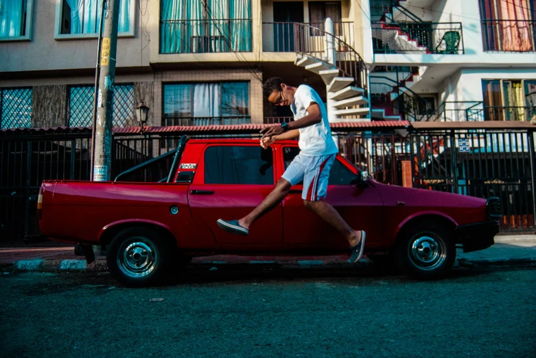
[{"label": "red front door of the pickup, behind the man's legs", "polygon": [[[286,168],[299,153],[297,146],[283,146],[283,166]],[[356,178],[340,155],[337,155],[327,186],[325,200],[356,230],[366,231],[366,241],[382,239],[384,203],[372,186],[356,188],[350,181]],[[283,238],[285,244],[334,244],[348,246],[347,240],[333,227],[318,218],[303,205],[303,183],[293,186],[283,200]]]}]

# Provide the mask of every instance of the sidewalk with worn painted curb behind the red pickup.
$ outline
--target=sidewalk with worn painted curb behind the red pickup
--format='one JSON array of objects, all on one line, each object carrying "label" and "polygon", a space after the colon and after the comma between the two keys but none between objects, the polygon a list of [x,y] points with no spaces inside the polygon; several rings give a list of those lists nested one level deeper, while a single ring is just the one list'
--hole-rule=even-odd
[{"label": "sidewalk with worn painted curb behind the red pickup", "polygon": [[[196,257],[194,265],[229,265],[229,264],[277,264],[281,266],[321,266],[347,264],[347,256],[236,256],[214,255]],[[364,257],[360,264],[370,264]],[[536,266],[536,235],[500,235],[490,248],[473,253],[462,253],[458,249],[454,266]],[[106,257],[97,256],[95,262],[86,264],[83,256],[74,255],[72,245],[34,246],[0,248],[0,270],[33,270],[57,272],[61,270],[99,271],[108,270]]]}]

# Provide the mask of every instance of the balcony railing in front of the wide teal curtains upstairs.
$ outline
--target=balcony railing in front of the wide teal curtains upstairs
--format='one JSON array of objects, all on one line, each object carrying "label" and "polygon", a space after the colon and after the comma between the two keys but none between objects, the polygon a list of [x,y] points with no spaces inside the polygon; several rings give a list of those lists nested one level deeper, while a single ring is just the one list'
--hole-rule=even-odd
[{"label": "balcony railing in front of the wide teal curtains upstairs", "polygon": [[251,51],[251,19],[160,21],[160,53]]}]

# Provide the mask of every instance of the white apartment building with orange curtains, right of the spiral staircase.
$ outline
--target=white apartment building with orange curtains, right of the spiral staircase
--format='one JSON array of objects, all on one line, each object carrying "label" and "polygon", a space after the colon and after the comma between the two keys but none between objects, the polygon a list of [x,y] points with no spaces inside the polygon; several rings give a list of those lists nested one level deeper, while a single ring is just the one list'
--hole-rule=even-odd
[{"label": "white apartment building with orange curtains, right of the spiral staircase", "polygon": [[[534,0],[370,0],[373,118],[531,120]],[[368,10],[368,9],[367,9]]]}]

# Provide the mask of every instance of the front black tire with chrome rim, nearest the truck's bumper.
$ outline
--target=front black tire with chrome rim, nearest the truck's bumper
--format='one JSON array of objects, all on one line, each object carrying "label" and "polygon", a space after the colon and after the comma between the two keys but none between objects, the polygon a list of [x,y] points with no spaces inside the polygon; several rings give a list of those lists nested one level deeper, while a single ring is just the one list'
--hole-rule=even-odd
[{"label": "front black tire with chrome rim, nearest the truck's bumper", "polygon": [[395,264],[416,279],[437,279],[456,259],[452,231],[439,222],[419,222],[401,232],[395,246]]}]

